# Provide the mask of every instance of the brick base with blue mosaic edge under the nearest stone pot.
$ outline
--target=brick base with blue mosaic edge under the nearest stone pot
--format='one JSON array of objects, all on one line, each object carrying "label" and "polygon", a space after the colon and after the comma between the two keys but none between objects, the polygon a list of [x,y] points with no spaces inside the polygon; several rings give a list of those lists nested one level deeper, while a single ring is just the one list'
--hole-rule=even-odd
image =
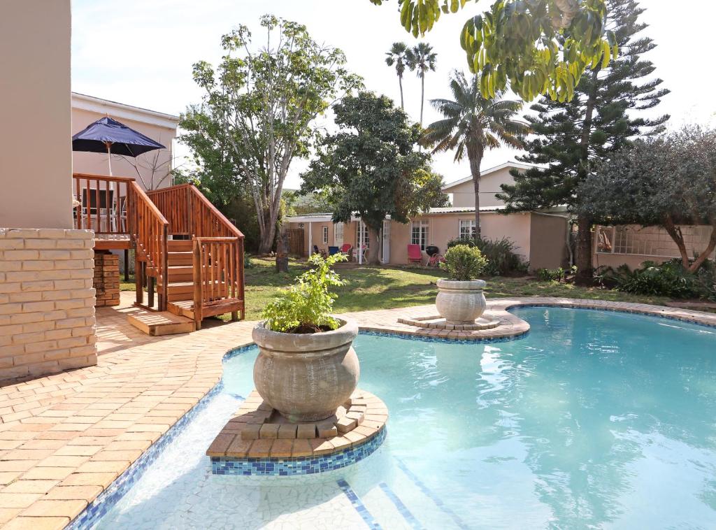
[{"label": "brick base with blue mosaic edge under the nearest stone pot", "polygon": [[206,454],[218,475],[288,476],[321,473],[362,460],[382,443],[388,409],[356,389],[332,418],[289,423],[254,390]]}]

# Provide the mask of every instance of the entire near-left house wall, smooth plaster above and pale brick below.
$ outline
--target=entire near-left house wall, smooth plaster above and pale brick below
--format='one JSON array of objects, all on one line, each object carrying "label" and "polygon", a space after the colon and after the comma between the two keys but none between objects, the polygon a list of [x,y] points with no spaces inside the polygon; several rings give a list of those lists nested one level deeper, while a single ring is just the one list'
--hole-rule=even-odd
[{"label": "entire near-left house wall, smooth plaster above and pale brick below", "polygon": [[72,229],[70,0],[0,16],[0,381],[97,364],[92,231]]}]

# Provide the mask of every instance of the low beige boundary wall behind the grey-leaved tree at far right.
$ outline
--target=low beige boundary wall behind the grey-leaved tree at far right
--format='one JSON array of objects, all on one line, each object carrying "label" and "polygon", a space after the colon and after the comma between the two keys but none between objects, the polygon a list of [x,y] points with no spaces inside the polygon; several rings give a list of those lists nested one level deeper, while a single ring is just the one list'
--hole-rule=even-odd
[{"label": "low beige boundary wall behind the grey-leaved tree at far right", "polygon": [[[681,226],[684,244],[690,257],[702,252],[709,241],[712,228],[710,226]],[[613,251],[600,245],[599,232],[604,229],[606,245]],[[644,261],[662,263],[673,258],[680,258],[679,249],[664,228],[659,226],[625,225],[616,227],[596,227],[594,240],[593,265],[618,267],[626,264],[630,269],[637,269]],[[716,259],[716,251],[709,256]]]}]

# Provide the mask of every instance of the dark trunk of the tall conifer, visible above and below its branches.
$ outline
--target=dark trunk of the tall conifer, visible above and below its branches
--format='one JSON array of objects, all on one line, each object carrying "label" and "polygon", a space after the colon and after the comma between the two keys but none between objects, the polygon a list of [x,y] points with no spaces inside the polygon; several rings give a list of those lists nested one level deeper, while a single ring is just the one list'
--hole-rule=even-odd
[{"label": "dark trunk of the tall conifer, visible above and below its branches", "polygon": [[[586,101],[584,113],[584,125],[579,140],[580,168],[578,171],[579,182],[586,180],[589,175],[589,138],[591,137],[591,123],[596,107],[596,80],[601,67],[597,66],[591,73],[591,87],[589,98]],[[594,269],[591,264],[591,219],[585,216],[577,218],[579,228],[579,239],[577,240],[577,275],[575,282],[579,285],[591,285],[594,281]]]}]

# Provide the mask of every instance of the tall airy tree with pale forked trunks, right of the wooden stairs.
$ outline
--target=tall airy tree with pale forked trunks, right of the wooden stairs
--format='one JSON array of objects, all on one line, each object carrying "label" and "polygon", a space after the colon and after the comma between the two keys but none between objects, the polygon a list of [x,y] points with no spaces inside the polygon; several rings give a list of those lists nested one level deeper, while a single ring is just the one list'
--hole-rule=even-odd
[{"label": "tall airy tree with pale forked trunks, right of the wooden stairs", "polygon": [[261,243],[271,250],[281,209],[281,191],[294,157],[316,140],[314,119],[332,102],[362,85],[343,65],[339,49],[317,44],[296,22],[265,15],[266,44],[251,49],[246,26],[226,34],[226,52],[215,70],[194,64],[195,82],[233,150],[233,160],[251,191]]}]

